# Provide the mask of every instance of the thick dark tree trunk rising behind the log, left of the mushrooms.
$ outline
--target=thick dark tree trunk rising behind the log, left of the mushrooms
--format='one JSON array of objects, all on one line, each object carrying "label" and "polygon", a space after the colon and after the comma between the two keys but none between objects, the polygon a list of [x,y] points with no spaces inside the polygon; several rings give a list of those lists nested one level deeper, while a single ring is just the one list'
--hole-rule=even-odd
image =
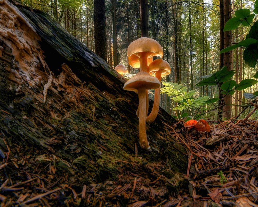
[{"label": "thick dark tree trunk rising behind the log, left of the mushrooms", "polygon": [[94,0],[95,53],[107,61],[105,0]]}]

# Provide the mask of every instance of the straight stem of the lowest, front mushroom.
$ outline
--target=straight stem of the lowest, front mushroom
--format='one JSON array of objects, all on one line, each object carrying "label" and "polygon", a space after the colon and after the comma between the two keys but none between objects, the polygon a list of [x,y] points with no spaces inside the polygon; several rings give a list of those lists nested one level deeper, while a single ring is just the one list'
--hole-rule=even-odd
[{"label": "straight stem of the lowest, front mushroom", "polygon": [[143,149],[149,149],[149,142],[146,135],[146,89],[140,88],[138,90],[139,97],[139,137],[140,146]]}]

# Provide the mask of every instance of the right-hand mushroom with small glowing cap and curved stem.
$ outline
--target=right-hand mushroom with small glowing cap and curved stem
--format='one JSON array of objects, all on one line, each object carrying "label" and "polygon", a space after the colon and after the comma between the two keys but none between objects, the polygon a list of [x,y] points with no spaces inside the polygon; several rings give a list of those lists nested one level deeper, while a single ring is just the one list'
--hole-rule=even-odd
[{"label": "right-hand mushroom with small glowing cap and curved stem", "polygon": [[[170,74],[171,67],[167,61],[162,59],[156,59],[148,66],[148,72],[150,73],[150,75],[156,76],[156,78],[158,78],[159,80],[159,83],[161,83],[161,78]],[[158,115],[159,99],[160,99],[160,86],[159,88],[155,89],[154,104],[153,104],[151,113],[146,118],[146,123],[148,124],[150,124],[151,122],[154,122],[154,120]]]}]

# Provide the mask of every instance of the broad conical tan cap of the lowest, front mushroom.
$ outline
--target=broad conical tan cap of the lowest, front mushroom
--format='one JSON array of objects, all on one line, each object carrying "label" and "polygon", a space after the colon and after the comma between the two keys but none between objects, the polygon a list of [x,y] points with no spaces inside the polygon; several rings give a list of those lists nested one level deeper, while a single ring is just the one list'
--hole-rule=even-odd
[{"label": "broad conical tan cap of the lowest, front mushroom", "polygon": [[159,88],[158,78],[151,76],[149,73],[141,71],[126,81],[123,89],[137,92],[139,88],[152,89]]}]

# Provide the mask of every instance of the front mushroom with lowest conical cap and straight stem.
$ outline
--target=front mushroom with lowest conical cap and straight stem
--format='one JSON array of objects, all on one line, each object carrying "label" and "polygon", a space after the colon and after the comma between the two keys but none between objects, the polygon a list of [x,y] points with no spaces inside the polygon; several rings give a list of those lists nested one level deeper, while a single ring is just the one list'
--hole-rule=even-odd
[{"label": "front mushroom with lowest conical cap and straight stem", "polygon": [[127,80],[124,90],[138,91],[139,97],[139,137],[140,146],[143,149],[149,149],[149,142],[146,136],[146,90],[160,87],[160,82],[156,77],[149,73],[141,71]]}]

